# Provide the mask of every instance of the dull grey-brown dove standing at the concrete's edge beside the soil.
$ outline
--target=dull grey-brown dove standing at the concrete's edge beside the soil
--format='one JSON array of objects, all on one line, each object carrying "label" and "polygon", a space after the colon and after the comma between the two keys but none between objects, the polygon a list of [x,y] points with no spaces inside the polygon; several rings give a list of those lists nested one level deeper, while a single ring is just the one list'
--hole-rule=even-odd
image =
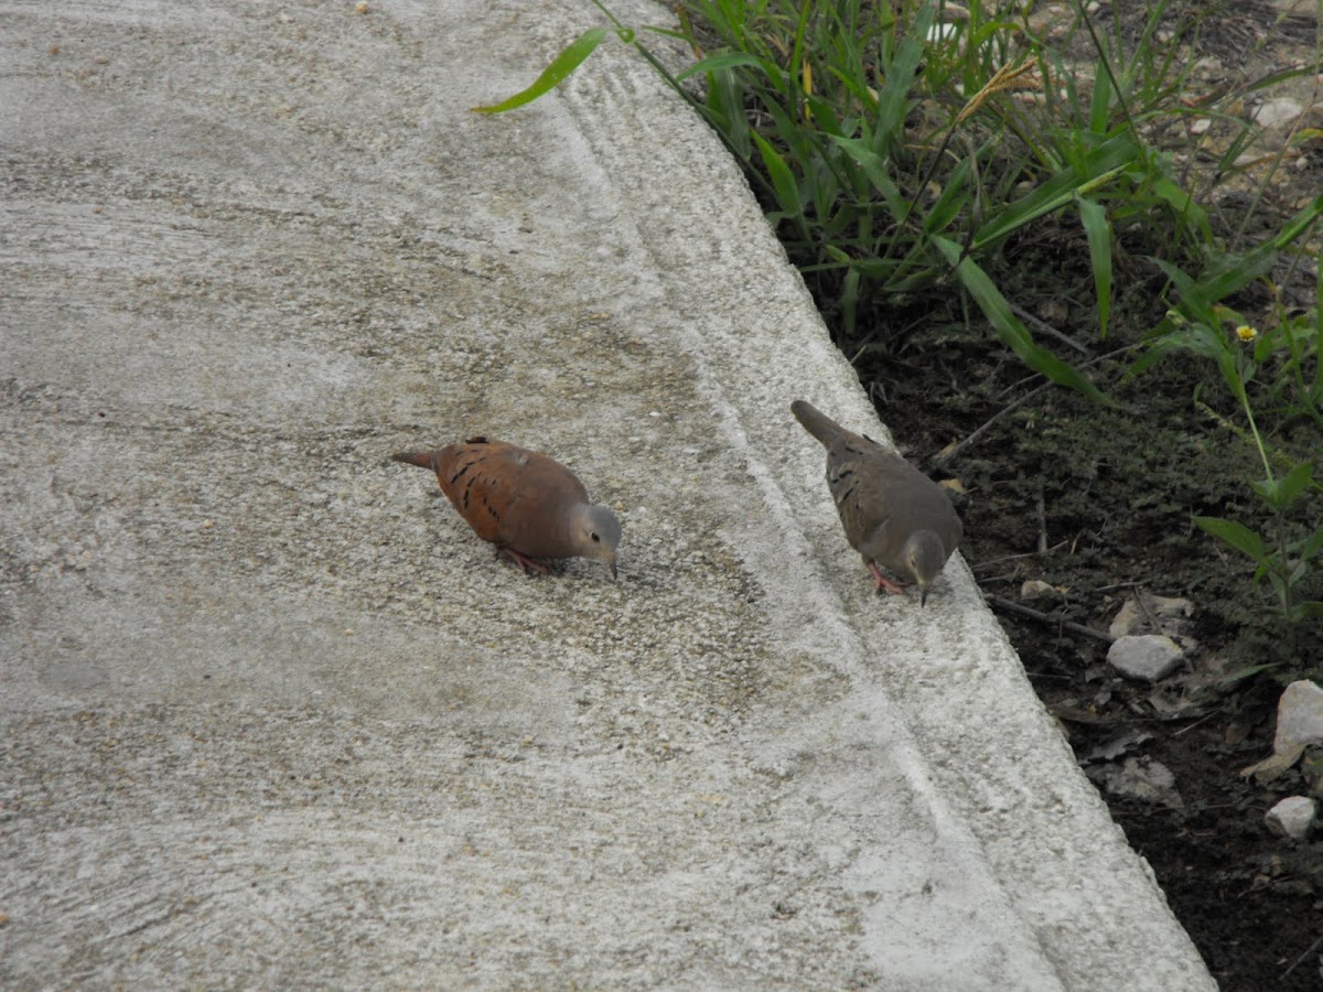
[{"label": "dull grey-brown dove standing at the concrete's edge beside the soil", "polygon": [[904,589],[884,578],[881,566],[918,583],[919,606],[926,603],[933,579],[960,542],[960,518],[946,493],[904,458],[811,403],[796,399],[790,411],[827,448],[827,487],[845,540],[864,556],[877,591]]}]

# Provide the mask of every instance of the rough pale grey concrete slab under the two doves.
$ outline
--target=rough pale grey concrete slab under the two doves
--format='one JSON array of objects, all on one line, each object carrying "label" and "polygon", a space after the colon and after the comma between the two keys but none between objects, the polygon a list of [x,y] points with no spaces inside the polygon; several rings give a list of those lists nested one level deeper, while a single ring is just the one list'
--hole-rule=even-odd
[{"label": "rough pale grey concrete slab under the two doves", "polygon": [[[718,142],[468,112],[591,4],[0,15],[0,985],[1212,988],[960,558],[871,594]],[[386,460],[476,433],[620,582]]]}]

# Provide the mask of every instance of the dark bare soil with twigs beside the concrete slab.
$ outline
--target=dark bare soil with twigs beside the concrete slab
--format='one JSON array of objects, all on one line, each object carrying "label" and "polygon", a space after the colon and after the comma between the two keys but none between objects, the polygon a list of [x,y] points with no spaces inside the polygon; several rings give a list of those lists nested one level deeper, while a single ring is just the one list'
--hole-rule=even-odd
[{"label": "dark bare soil with twigs beside the concrete slab", "polygon": [[[923,348],[922,361],[860,368],[912,458],[968,436],[1024,376],[991,345],[950,341],[946,351],[941,362]],[[1191,522],[1195,513],[1252,512],[1241,480],[1254,464],[1195,407],[1185,372],[1114,388],[1117,410],[1060,389],[1040,394],[934,477],[954,476],[967,491],[963,552],[984,593],[1049,618],[1002,612],[1044,704],[1221,987],[1316,989],[1323,844],[1297,845],[1263,824],[1277,800],[1308,786],[1298,771],[1270,787],[1240,771],[1271,753],[1274,675],[1298,673],[1323,645],[1315,636],[1302,638],[1299,655],[1286,648],[1245,562]],[[970,384],[979,384],[972,394]],[[1035,579],[1054,593],[1021,597]],[[1106,631],[1140,593],[1192,606],[1177,631],[1196,643],[1191,661],[1156,686],[1107,665],[1105,639],[1061,626]],[[1281,668],[1226,680],[1271,660]]]}]

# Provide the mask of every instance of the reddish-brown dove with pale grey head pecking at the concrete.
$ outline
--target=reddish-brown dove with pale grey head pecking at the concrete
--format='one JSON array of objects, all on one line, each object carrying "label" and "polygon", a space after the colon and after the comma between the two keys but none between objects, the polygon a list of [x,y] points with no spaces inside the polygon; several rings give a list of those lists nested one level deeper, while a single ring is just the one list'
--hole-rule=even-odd
[{"label": "reddish-brown dove with pale grey head pecking at the concrete", "polygon": [[610,508],[589,503],[583,483],[560,462],[488,438],[392,458],[434,471],[474,533],[525,573],[546,574],[540,559],[577,557],[605,562],[615,578],[620,522]]}]

